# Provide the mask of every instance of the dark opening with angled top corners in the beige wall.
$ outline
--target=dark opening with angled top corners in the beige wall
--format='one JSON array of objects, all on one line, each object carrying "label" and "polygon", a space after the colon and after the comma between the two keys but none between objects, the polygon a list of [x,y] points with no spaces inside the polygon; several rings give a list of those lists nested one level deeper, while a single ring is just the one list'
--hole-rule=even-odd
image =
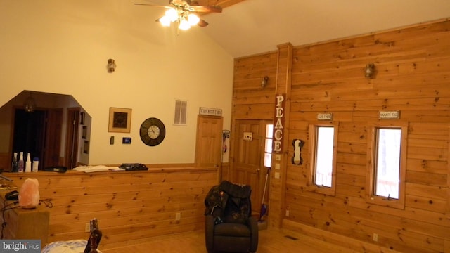
[{"label": "dark opening with angled top corners in the beige wall", "polygon": [[[35,107],[26,112],[24,101],[30,97]],[[70,95],[18,93],[0,107],[0,170],[10,171],[13,153],[20,152],[25,158],[27,153],[31,159],[37,157],[39,169],[56,165],[72,169],[89,164],[86,143],[90,140],[91,122],[89,113]]]}]

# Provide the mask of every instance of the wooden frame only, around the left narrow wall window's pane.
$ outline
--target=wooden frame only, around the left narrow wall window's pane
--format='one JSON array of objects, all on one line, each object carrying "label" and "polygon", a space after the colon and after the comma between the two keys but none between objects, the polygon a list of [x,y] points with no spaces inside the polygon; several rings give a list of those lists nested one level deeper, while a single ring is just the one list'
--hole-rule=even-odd
[{"label": "wooden frame only, around the left narrow wall window's pane", "polygon": [[[331,187],[328,186],[318,186],[315,183],[315,175],[316,175],[316,148],[317,148],[317,132],[318,127],[333,127],[333,163],[331,170]],[[337,168],[337,157],[338,157],[338,131],[339,131],[339,122],[318,122],[315,124],[309,124],[309,143],[311,143],[309,148],[310,154],[310,162],[309,162],[309,179],[308,179],[308,189],[314,191],[316,193],[321,193],[325,195],[336,194],[336,168]]]}]

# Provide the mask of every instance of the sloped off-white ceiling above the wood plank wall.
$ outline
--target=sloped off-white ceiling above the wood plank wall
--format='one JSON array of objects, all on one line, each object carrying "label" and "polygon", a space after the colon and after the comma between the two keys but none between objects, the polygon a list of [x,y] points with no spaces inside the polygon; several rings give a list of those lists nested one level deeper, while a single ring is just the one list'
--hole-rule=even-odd
[{"label": "sloped off-white ceiling above the wood plank wall", "polygon": [[[167,0],[144,0],[167,5]],[[193,0],[194,1],[194,0]],[[237,4],[234,4],[236,3]],[[450,18],[449,0],[198,0],[233,4],[202,29],[233,57]],[[161,11],[163,13],[163,11]],[[158,18],[158,17],[155,17]]]}]

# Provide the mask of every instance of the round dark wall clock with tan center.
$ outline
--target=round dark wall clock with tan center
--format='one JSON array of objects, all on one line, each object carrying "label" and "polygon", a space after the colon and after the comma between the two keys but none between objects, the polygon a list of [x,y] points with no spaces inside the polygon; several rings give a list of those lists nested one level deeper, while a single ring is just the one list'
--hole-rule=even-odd
[{"label": "round dark wall clock with tan center", "polygon": [[166,136],[166,128],[160,119],[151,117],[142,122],[140,135],[146,145],[159,145]]}]

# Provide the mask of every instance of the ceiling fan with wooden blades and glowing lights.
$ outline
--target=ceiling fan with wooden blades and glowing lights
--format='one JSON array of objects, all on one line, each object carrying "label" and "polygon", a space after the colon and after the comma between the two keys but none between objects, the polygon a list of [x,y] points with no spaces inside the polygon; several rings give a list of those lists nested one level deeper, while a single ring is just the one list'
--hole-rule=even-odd
[{"label": "ceiling fan with wooden blades and glowing lights", "polygon": [[164,7],[168,10],[165,15],[158,18],[158,22],[161,25],[169,27],[173,22],[178,25],[178,29],[188,30],[193,25],[205,27],[208,23],[198,18],[195,13],[221,13],[222,8],[220,6],[200,6],[196,5],[197,2],[191,4],[191,0],[169,0],[169,6],[158,6],[155,4],[136,4],[140,6],[158,6]]}]

